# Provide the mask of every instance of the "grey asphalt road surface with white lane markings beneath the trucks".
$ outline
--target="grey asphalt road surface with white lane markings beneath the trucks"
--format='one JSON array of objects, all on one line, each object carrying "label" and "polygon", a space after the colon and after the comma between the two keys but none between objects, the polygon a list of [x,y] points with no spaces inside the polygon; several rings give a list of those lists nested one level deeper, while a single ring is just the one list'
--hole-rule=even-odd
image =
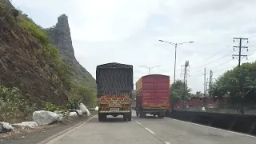
[{"label": "grey asphalt road surface with white lane markings beneath the trucks", "polygon": [[255,144],[256,137],[182,122],[171,118],[148,116],[131,122],[122,117],[90,121],[52,139],[47,144]]}]

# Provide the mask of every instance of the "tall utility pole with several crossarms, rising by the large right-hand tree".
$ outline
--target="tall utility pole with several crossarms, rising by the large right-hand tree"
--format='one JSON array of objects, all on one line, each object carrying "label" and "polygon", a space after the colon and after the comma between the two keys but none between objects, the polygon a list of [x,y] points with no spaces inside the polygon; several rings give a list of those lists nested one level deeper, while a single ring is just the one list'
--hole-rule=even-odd
[{"label": "tall utility pole with several crossarms, rising by the large right-hand tree", "polygon": [[[241,57],[246,57],[247,58],[247,55],[241,54],[242,50],[246,49],[248,51],[248,46],[242,46],[242,42],[247,40],[247,43],[248,43],[248,38],[234,38],[234,40],[239,41],[239,46],[233,46],[234,48],[238,48],[238,54],[233,54],[232,58],[234,59],[234,57],[238,57],[238,68],[240,69]],[[241,100],[237,102],[237,110],[238,110],[238,107],[240,107],[240,113],[244,114],[243,95],[245,94],[245,92],[244,92],[244,89],[243,89],[243,83],[241,82],[241,78],[238,79],[238,91],[242,92],[241,93],[242,95],[241,95]],[[239,106],[239,103],[240,103],[241,106]]]}]

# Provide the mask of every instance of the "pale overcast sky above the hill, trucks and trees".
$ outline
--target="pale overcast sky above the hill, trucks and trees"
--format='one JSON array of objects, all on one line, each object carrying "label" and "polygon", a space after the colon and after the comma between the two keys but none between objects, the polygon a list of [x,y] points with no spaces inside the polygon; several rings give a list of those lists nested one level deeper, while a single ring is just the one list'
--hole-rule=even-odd
[{"label": "pale overcast sky above the hill, trucks and trees", "polygon": [[194,92],[203,91],[204,67],[206,78],[209,70],[214,71],[213,78],[218,78],[238,64],[237,59],[232,60],[232,54],[238,54],[238,50],[233,51],[233,46],[238,45],[233,42],[234,37],[250,38],[248,44],[243,42],[244,46],[250,46],[249,52],[242,52],[249,55],[249,60],[243,58],[242,62],[256,60],[255,0],[12,2],[43,27],[54,26],[58,16],[67,14],[75,57],[94,78],[97,65],[121,62],[134,66],[134,83],[148,74],[140,66],[159,66],[150,74],[170,75],[173,82],[174,46],[158,39],[194,41],[178,46],[176,69],[176,79],[181,79],[181,65],[190,61],[188,86]]}]

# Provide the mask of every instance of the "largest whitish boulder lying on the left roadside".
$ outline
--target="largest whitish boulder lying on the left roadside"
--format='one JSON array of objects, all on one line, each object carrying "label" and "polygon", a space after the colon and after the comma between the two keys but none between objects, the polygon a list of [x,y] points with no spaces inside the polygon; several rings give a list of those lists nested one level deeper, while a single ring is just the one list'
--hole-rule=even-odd
[{"label": "largest whitish boulder lying on the left roadside", "polygon": [[34,122],[37,122],[38,125],[49,125],[51,123],[57,122],[58,119],[58,114],[51,111],[40,110],[33,113],[33,120]]}]

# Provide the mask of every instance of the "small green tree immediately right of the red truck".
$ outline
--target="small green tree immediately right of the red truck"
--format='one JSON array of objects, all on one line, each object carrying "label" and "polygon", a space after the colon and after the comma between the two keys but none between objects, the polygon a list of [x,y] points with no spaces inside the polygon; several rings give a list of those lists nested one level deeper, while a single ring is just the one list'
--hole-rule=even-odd
[{"label": "small green tree immediately right of the red truck", "polygon": [[[185,89],[185,101],[188,101],[191,98],[191,92],[192,90],[188,87]],[[176,80],[171,86],[170,86],[170,102],[172,104],[177,102],[182,102],[182,97],[184,94],[184,82],[182,80]]]}]

